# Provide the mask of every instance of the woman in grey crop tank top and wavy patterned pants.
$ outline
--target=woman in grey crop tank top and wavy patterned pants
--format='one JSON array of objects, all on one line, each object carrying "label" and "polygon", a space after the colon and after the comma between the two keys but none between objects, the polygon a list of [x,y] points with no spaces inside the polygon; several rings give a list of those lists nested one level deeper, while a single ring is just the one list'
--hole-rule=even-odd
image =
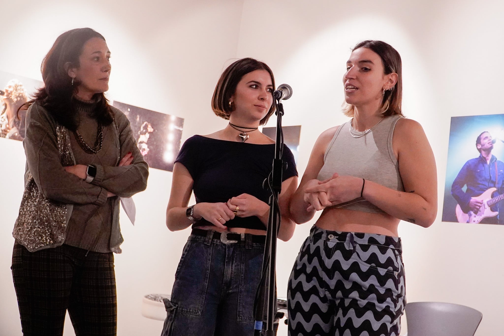
[{"label": "woman in grey crop tank top and wavy patterned pants", "polygon": [[289,335],[399,335],[406,300],[397,227],[429,227],[437,213],[432,150],[401,112],[401,56],[363,41],[346,66],[352,119],[319,137],[290,204],[296,223],[323,212],[289,279]]}]

